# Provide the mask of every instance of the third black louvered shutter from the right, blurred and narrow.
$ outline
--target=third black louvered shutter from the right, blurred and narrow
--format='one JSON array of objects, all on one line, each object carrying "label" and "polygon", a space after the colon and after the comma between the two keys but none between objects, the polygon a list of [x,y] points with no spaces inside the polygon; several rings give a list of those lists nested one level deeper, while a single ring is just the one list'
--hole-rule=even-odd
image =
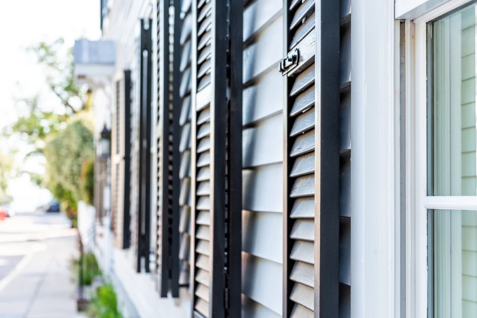
[{"label": "third black louvered shutter from the right, blurred and narrow", "polygon": [[[178,2],[178,1],[177,1]],[[161,297],[179,296],[179,148],[180,108],[174,107],[174,23],[169,0],[157,1],[157,228],[156,270]],[[176,6],[176,9],[180,8]],[[174,41],[172,41],[174,43]],[[178,71],[178,70],[177,70]],[[177,72],[178,73],[178,72]],[[178,80],[178,76],[176,77]]]}]

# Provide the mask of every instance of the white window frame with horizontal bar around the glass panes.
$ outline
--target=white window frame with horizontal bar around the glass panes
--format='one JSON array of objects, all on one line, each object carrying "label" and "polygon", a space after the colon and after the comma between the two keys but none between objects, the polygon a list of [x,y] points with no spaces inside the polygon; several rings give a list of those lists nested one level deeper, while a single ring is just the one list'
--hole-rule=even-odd
[{"label": "white window frame with horizontal bar around the glass panes", "polygon": [[428,315],[427,210],[477,210],[477,196],[427,195],[427,22],[471,2],[449,0],[406,21],[406,317]]}]

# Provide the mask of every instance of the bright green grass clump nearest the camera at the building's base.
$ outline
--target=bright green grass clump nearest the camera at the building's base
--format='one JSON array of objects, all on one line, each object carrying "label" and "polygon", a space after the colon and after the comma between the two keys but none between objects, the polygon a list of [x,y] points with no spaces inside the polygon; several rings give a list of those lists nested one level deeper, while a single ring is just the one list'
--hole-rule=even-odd
[{"label": "bright green grass clump nearest the camera at the building's base", "polygon": [[117,305],[118,302],[113,285],[106,284],[98,287],[86,310],[86,314],[94,318],[122,318],[123,315],[119,312]]}]

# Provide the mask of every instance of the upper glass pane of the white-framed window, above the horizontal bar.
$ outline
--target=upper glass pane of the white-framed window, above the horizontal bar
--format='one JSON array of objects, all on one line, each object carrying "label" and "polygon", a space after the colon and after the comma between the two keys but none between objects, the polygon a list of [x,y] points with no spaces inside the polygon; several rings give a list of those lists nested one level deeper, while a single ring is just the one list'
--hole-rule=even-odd
[{"label": "upper glass pane of the white-framed window, above the horizontal bar", "polygon": [[429,190],[477,195],[476,5],[429,24]]}]

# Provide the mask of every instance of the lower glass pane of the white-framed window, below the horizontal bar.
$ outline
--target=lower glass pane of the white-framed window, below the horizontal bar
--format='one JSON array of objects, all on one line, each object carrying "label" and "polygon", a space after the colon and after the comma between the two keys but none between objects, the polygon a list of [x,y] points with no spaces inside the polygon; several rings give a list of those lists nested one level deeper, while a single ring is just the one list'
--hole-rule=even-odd
[{"label": "lower glass pane of the white-framed window, below the horizontal bar", "polygon": [[476,317],[477,212],[429,213],[429,317]]}]

